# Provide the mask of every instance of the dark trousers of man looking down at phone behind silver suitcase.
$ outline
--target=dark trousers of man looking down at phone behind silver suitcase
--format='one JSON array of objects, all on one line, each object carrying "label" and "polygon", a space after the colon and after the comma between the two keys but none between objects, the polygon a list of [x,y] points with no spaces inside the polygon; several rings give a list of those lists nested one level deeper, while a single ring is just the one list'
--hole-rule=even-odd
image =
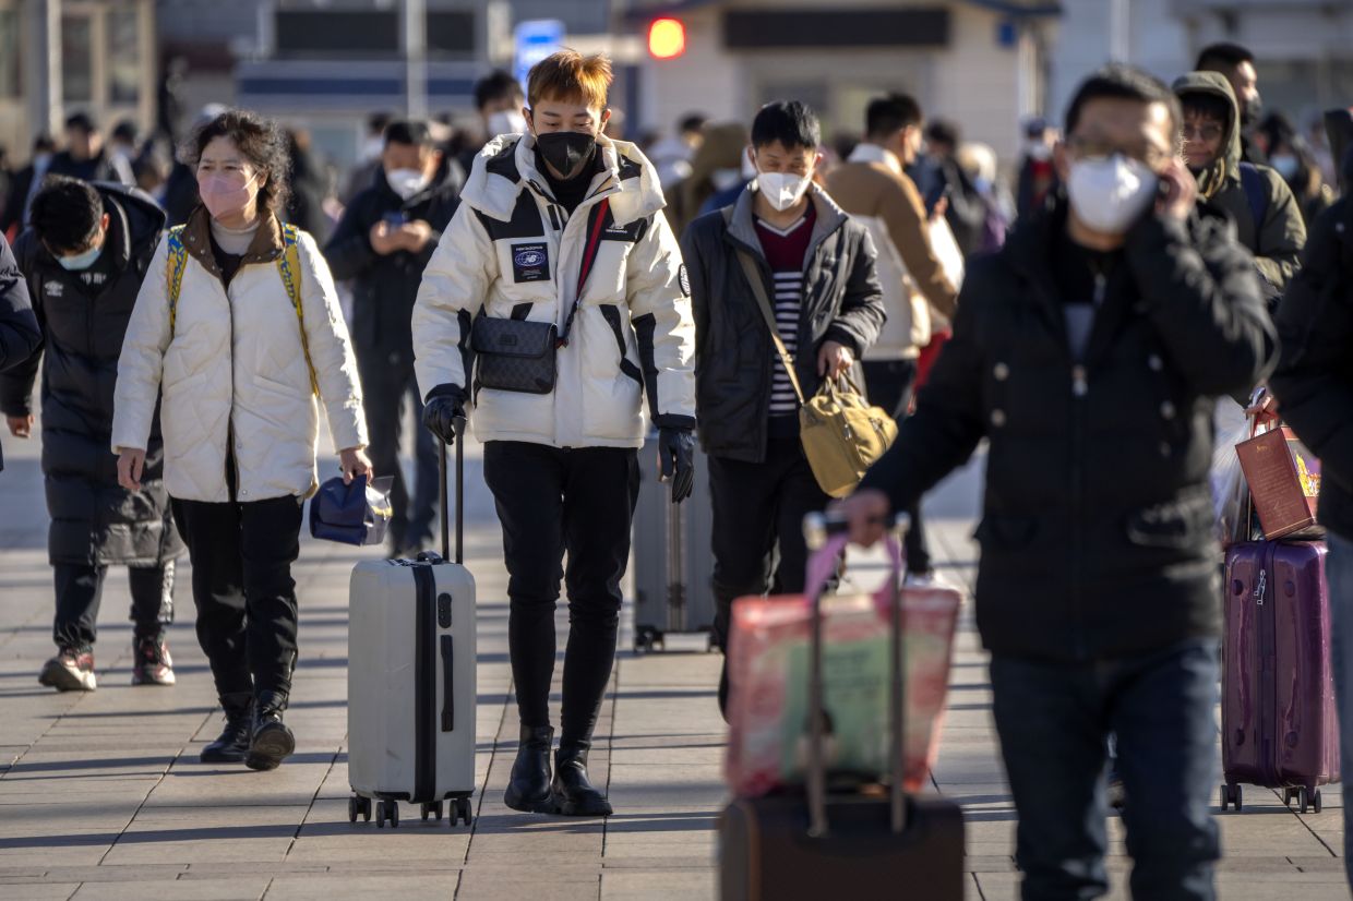
[{"label": "dark trousers of man looking down at phone behind silver suitcase", "polygon": [[432,547],[433,522],[437,519],[437,446],[432,432],[414,429],[413,506],[399,464],[399,434],[405,422],[405,400],[413,405],[414,417],[422,417],[422,398],[414,379],[411,359],[398,353],[388,357],[377,350],[359,354],[363,407],[367,411],[367,456],[377,476],[394,476],[390,503],[390,541],[395,552],[417,544]]}]

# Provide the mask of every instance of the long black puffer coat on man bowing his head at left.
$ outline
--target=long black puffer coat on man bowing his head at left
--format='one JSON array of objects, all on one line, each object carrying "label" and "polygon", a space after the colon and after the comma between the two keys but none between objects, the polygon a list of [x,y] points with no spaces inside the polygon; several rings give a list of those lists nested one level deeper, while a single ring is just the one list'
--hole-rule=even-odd
[{"label": "long black puffer coat on man bowing his head at left", "polygon": [[183,547],[162,480],[158,417],[137,494],[118,486],[111,440],[112,390],[127,321],[141,280],[165,277],[164,272],[146,272],[165,216],[135,188],[95,187],[110,219],[103,254],[112,261],[100,291],[87,292],[84,273],[62,269],[31,229],[15,245],[42,325],[43,348],[0,375],[0,410],[14,417],[32,411],[41,356],[42,471],[51,514],[51,563],[160,565],[179,556]]}]

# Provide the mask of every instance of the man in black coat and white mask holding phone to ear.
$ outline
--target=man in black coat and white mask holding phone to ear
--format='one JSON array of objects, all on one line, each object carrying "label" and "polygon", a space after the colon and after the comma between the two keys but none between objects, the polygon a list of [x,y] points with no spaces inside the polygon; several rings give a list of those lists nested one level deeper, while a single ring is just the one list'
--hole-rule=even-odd
[{"label": "man in black coat and white mask holding phone to ear", "polygon": [[989,441],[977,626],[1027,900],[1108,892],[1111,732],[1132,897],[1214,897],[1212,409],[1275,338],[1249,253],[1193,212],[1178,110],[1127,66],[1081,85],[1066,199],[969,269],[916,415],[843,503],[873,542]]}]

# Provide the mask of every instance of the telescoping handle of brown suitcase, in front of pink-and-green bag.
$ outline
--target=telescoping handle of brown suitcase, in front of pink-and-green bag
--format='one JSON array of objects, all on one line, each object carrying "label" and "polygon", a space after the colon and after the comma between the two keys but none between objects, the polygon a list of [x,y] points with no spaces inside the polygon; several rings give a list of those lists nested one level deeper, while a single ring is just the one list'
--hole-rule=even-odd
[{"label": "telescoping handle of brown suitcase, in front of pink-and-green bag", "polygon": [[[905,513],[897,514],[893,521],[893,530],[884,538],[888,552],[888,588],[889,588],[889,760],[892,764],[892,785],[889,786],[890,820],[894,833],[901,833],[907,828],[907,798],[902,791],[902,779],[907,774],[904,760],[904,713],[905,703],[905,666],[902,649],[902,536],[911,528],[911,518]],[[808,835],[824,837],[828,833],[827,823],[827,767],[823,745],[827,733],[827,709],[823,698],[823,594],[827,591],[827,576],[819,572],[820,567],[813,565],[817,560],[831,555],[838,557],[846,551],[847,524],[843,518],[832,514],[813,513],[804,519],[804,537],[808,548],[813,552],[809,563],[809,584],[812,591],[810,616],[810,648],[808,668]]]}]

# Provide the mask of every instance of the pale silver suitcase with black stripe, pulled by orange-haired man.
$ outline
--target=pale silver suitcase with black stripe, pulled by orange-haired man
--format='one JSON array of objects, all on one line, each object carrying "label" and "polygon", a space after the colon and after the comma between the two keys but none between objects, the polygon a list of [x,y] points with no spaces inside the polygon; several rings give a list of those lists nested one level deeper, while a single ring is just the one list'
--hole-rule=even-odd
[{"label": "pale silver suitcase with black stripe, pulled by orange-haired man", "polygon": [[[446,498],[446,448],[441,448]],[[463,563],[464,451],[456,441],[456,557],[446,505],[441,556],[367,560],[348,606],[348,818],[399,825],[399,802],[422,818],[471,821],[475,793],[475,579]]]}]

